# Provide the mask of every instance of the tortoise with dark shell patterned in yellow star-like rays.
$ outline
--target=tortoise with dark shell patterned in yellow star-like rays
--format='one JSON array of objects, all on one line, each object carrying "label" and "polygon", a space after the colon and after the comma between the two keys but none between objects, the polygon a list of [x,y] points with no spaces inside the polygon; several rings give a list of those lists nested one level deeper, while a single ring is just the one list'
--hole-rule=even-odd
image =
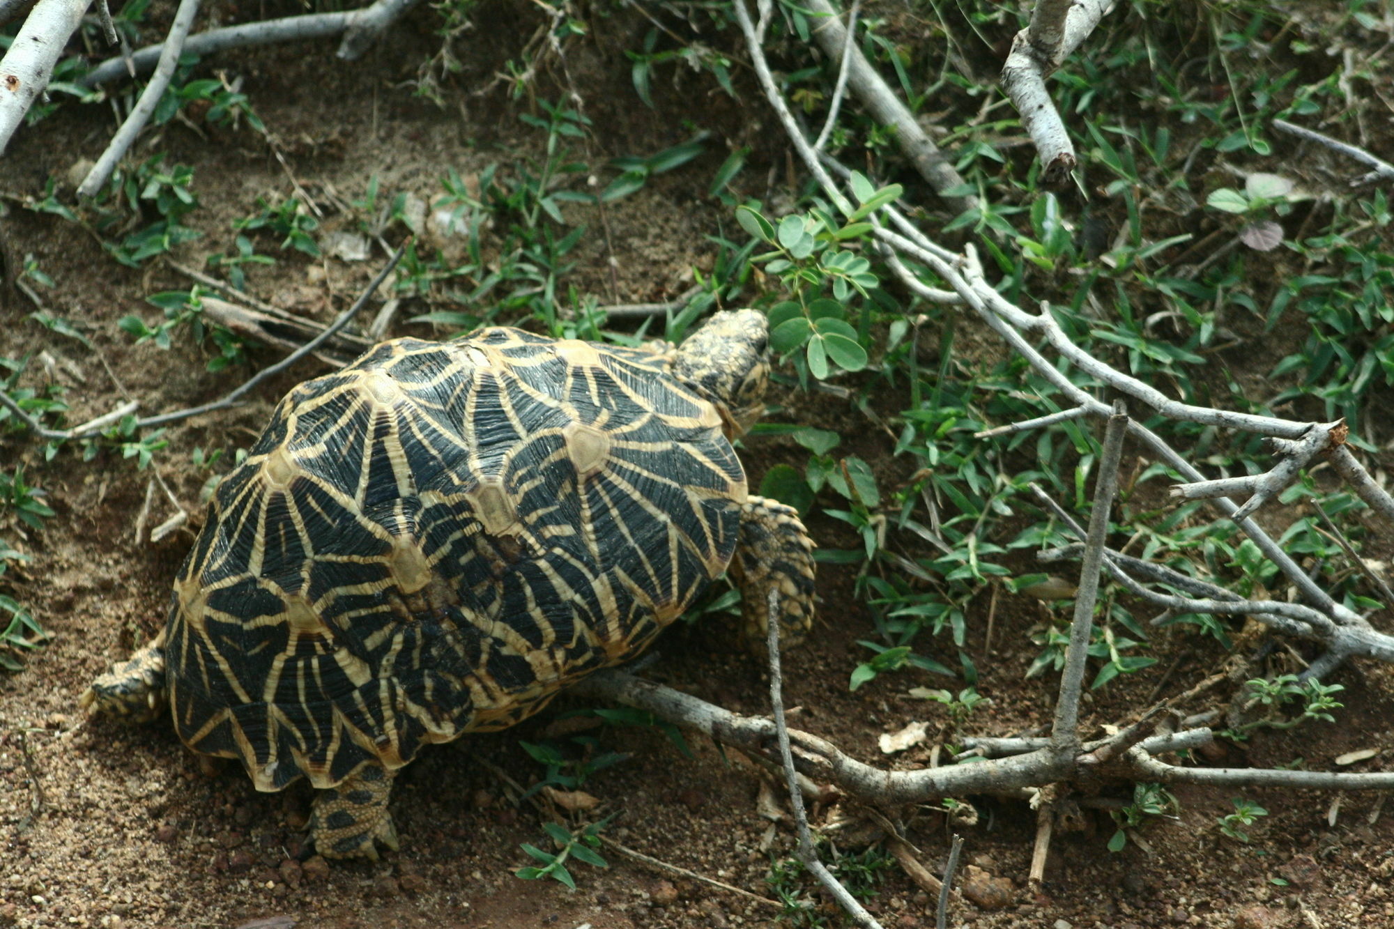
[{"label": "tortoise with dark shell patterned in yellow star-like rays", "polygon": [[166,707],[259,791],[305,777],[326,856],[397,847],[395,773],[647,649],[723,571],[742,637],[813,619],[797,512],[732,448],[764,410],[767,322],[677,349],[488,328],[395,339],[294,388],[217,487],[164,629],[82,695]]}]

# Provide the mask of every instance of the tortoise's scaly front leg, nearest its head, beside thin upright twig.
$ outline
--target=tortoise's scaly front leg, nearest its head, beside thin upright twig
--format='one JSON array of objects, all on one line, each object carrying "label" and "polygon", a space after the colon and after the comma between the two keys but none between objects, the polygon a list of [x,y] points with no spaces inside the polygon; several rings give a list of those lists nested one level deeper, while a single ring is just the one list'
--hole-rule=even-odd
[{"label": "tortoise's scaly front leg, nearest its head, beside thin upright twig", "polygon": [[769,629],[769,590],[778,591],[779,640],[799,644],[813,625],[813,540],[799,512],[764,497],[750,497],[740,511],[740,541],[730,562],[740,587],[742,643],[754,653],[765,649]]}]

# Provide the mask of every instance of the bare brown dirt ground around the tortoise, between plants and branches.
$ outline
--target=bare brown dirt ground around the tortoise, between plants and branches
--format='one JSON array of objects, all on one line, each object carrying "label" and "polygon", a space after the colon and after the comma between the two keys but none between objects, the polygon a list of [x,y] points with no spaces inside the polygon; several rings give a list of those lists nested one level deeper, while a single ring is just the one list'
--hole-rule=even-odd
[{"label": "bare brown dirt ground around the tortoise, between plants and branches", "polygon": [[[250,4],[241,4],[244,7]],[[219,10],[224,21],[268,18],[294,10]],[[500,4],[475,29],[477,52],[457,78],[460,86],[484,86],[503,57],[521,43],[526,4]],[[244,15],[245,14],[245,15]],[[606,28],[640,31],[631,18],[605,20]],[[160,21],[156,17],[156,21]],[[415,61],[431,54],[435,18],[418,11],[358,64],[332,56],[332,43],[308,43],[238,53],[236,67],[268,127],[284,142],[287,166],[312,192],[360,197],[378,174],[383,195],[436,192],[436,179],[453,166],[461,174],[528,152],[535,134],[517,120],[527,102],[500,92],[459,92],[442,109],[414,98],[401,81]],[[491,40],[507,36],[507,40]],[[588,116],[601,128],[595,160],[652,152],[686,138],[684,116],[714,130],[732,146],[753,145],[753,165],[743,176],[751,195],[783,195],[785,155],[763,100],[744,105],[711,95],[697,102],[686,88],[655,84],[657,110],[644,107],[629,85],[630,64],[619,49],[634,47],[633,35],[598,36],[570,61],[580,85],[590,88]],[[588,49],[588,50],[585,50]],[[198,128],[198,127],[195,127]],[[229,223],[245,215],[258,195],[289,190],[287,169],[250,134],[227,135],[210,127],[195,131],[170,123],[149,151],[169,151],[197,169],[202,206],[195,225],[204,239],[180,247],[176,257],[201,266],[202,258],[230,246]],[[36,194],[47,177],[66,177],[79,158],[95,158],[112,131],[105,106],[67,106],[38,128],[25,130],[0,162],[0,187]],[[142,149],[144,152],[145,149]],[[725,158],[715,145],[694,170],[651,181],[640,194],[609,208],[609,250],[588,237],[576,255],[581,280],[602,301],[672,299],[690,283],[690,268],[711,261],[705,236],[730,227],[729,212],[705,198],[710,177]],[[771,187],[761,187],[769,184]],[[332,229],[336,220],[326,223]],[[54,378],[68,386],[71,423],[106,411],[128,393],[144,411],[206,402],[240,381],[244,372],[204,370],[204,357],[187,342],[170,352],[132,346],[116,326],[135,312],[152,318],[145,296],[183,289],[188,280],[160,261],[145,271],[123,269],[72,225],[53,216],[11,211],[4,220],[8,248],[32,254],[54,280],[45,292],[50,308],[85,332],[88,352],[57,340],[26,319],[32,307],[13,292],[0,292],[0,356],[47,352],[52,363],[33,361],[32,384]],[[284,308],[328,318],[353,299],[382,255],[372,261],[316,262],[290,252],[273,269],[254,271],[251,289]],[[588,271],[587,271],[588,269]],[[396,335],[422,335],[422,326],[397,322]],[[262,367],[279,354],[252,350]],[[107,371],[109,365],[109,371]],[[245,406],[199,417],[167,432],[170,448],[156,467],[173,494],[194,513],[206,474],[187,462],[194,448],[245,448],[265,424],[272,405],[297,381],[319,372],[311,361],[259,389]],[[889,459],[891,445],[864,427],[855,410],[827,398],[786,392],[778,418],[843,432],[861,432],[857,453]],[[887,400],[891,409],[898,400]],[[800,462],[802,449],[783,439],[749,441],[744,460],[751,483],[778,462]],[[85,721],[78,693],[113,661],[127,657],[163,622],[170,580],[188,550],[192,529],[156,544],[137,541],[134,527],[146,501],[151,471],[103,455],[82,462],[71,451],[42,462],[18,434],[0,439],[0,466],[24,462],[40,476],[57,511],[42,531],[6,527],[11,544],[32,561],[11,568],[17,596],[31,604],[54,640],[21,674],[0,678],[0,925],[21,926],[434,926],[524,929],[693,929],[712,926],[790,925],[778,907],[711,884],[658,870],[602,848],[609,868],[574,868],[579,889],[555,882],[524,882],[513,872],[530,863],[520,843],[542,844],[542,819],[514,801],[507,780],[534,783],[539,766],[519,746],[559,730],[558,711],[577,709],[562,700],[535,720],[496,735],[467,737],[429,749],[397,780],[393,816],[403,837],[400,852],[376,863],[333,862],[305,854],[302,829],[309,791],[302,784],[283,794],[256,794],[247,777],[224,767],[201,771],[198,760],[163,725],[127,728]],[[896,467],[888,463],[885,467]],[[159,523],[173,511],[156,492],[148,518]],[[21,531],[22,530],[22,531]],[[824,547],[848,547],[845,527],[814,519]],[[1390,551],[1373,557],[1388,558]],[[1022,564],[1022,571],[1032,565]],[[850,569],[824,566],[820,575],[821,619],[811,643],[786,656],[790,706],[802,707],[797,725],[836,742],[843,750],[878,764],[926,764],[928,752],[894,760],[877,738],[912,720],[931,730],[945,723],[942,707],[910,697],[910,686],[962,686],[919,672],[884,675],[856,693],[848,675],[866,650],[871,619],[852,596]],[[983,617],[970,628],[969,650],[983,672],[979,690],[991,697],[970,728],[984,735],[1012,735],[1048,720],[1052,679],[1026,681],[1036,654],[1027,630],[1044,607],[1004,593],[997,605],[991,647]],[[712,703],[744,713],[767,707],[761,665],[736,653],[728,636],[707,625],[679,625],[665,633],[658,657],[644,674]],[[1105,724],[1144,706],[1160,688],[1182,690],[1223,661],[1213,643],[1182,628],[1160,630],[1160,661],[1119,679],[1090,697],[1087,721]],[[942,656],[941,656],[942,657]],[[952,661],[952,657],[945,660]],[[1312,770],[1358,749],[1384,749],[1394,739],[1394,679],[1390,670],[1359,664],[1334,677],[1344,683],[1347,709],[1334,725],[1309,725],[1255,738],[1246,750],[1217,749],[1214,764],[1281,764],[1306,759]],[[585,790],[602,801],[599,815],[616,815],[605,836],[627,848],[771,898],[767,876],[772,858],[792,854],[788,822],[771,830],[757,796],[765,777],[750,763],[697,737],[693,757],[683,756],[651,728],[597,732],[604,748],[627,760],[606,769]],[[1347,770],[1377,770],[1380,760]],[[1104,796],[1125,798],[1119,785]],[[1057,834],[1046,884],[1026,884],[1036,816],[1022,803],[980,799],[965,834],[965,861],[976,880],[1005,879],[1002,907],[956,905],[951,925],[1006,926],[1394,926],[1394,817],[1379,816],[1380,799],[1351,794],[1246,791],[1270,815],[1252,830],[1248,845],[1223,837],[1217,816],[1230,812],[1230,794],[1178,790],[1181,812],[1142,833],[1146,847],[1131,843],[1110,854],[1107,813],[1085,810],[1083,829]],[[1340,803],[1337,809],[1337,802]],[[848,810],[814,810],[827,823]],[[855,810],[853,810],[855,812]],[[907,815],[907,812],[902,813]],[[909,838],[920,859],[940,870],[949,826],[942,815],[921,810],[909,817]],[[864,830],[863,830],[864,831]],[[861,851],[853,837],[839,849]],[[884,872],[868,901],[887,926],[933,925],[933,901],[899,869]],[[842,925],[829,904],[817,915]],[[273,918],[282,918],[279,922]],[[265,922],[256,922],[265,921]]]}]

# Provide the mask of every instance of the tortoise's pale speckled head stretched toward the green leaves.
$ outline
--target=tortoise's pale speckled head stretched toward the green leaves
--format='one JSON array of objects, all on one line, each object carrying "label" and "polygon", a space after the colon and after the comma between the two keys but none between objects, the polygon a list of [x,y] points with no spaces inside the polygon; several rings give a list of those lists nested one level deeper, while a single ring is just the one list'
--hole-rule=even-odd
[{"label": "tortoise's pale speckled head stretched toward the green leaves", "polygon": [[728,438],[765,411],[769,324],[757,310],[722,310],[677,349],[673,374],[717,406]]}]

